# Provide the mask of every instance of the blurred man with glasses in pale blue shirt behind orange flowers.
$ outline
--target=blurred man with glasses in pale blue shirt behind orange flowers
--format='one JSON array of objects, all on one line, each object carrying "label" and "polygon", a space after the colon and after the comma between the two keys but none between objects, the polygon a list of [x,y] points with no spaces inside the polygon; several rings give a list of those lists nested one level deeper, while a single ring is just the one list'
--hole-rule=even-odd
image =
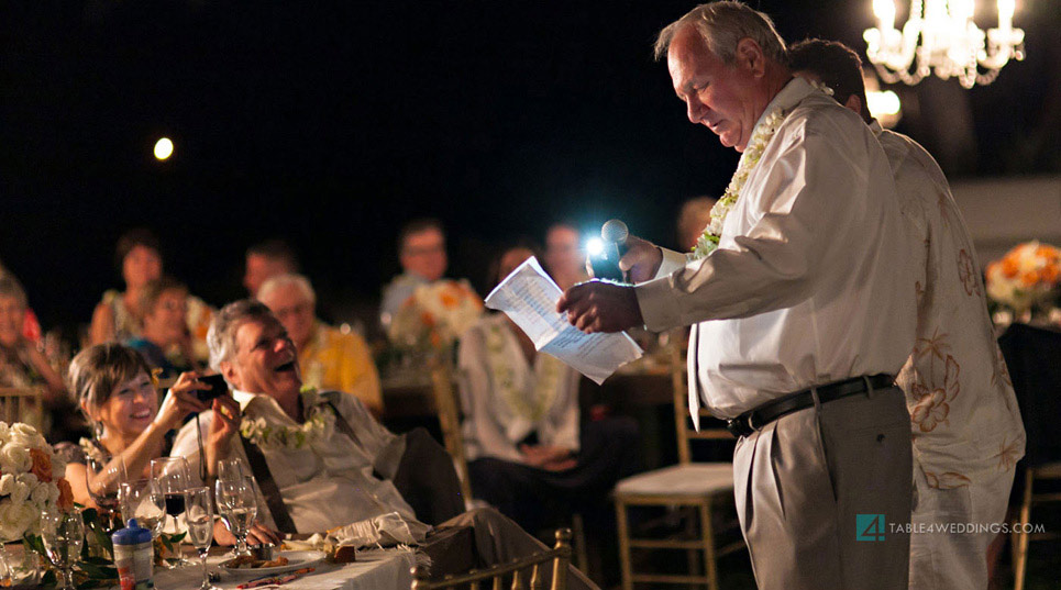
[{"label": "blurred man with glasses in pale blue shirt behind orange flowers", "polygon": [[389,325],[395,312],[417,287],[436,281],[445,275],[449,260],[442,222],[420,219],[407,223],[398,234],[398,260],[401,263],[401,274],[383,290],[379,315],[384,326]]}]

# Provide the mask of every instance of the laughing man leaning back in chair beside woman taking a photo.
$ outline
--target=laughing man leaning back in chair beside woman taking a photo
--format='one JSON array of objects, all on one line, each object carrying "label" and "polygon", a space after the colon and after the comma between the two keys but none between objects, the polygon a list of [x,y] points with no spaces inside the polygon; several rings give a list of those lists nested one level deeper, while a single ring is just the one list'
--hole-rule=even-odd
[{"label": "laughing man leaning back in chair beside woman taking a photo", "polygon": [[[242,457],[255,472],[267,504],[258,509],[263,523],[306,534],[391,512],[417,521],[413,502],[390,479],[400,470],[401,437],[376,422],[353,396],[301,391],[295,345],[265,304],[241,300],[225,305],[207,341],[210,366],[232,387],[243,414],[241,436],[232,438],[225,456]],[[199,415],[206,432],[211,420],[209,412]],[[279,436],[281,432],[290,436]],[[195,421],[177,434],[172,455],[198,461]],[[471,527],[480,566],[545,548],[493,509],[465,512],[440,522],[435,531],[455,527]],[[596,588],[574,568],[571,582],[572,588]]]}]

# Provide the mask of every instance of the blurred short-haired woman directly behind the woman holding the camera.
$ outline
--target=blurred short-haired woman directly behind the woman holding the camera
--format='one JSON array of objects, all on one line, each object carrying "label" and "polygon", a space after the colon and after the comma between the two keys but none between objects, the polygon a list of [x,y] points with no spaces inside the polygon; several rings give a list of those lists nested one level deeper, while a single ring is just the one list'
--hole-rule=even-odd
[{"label": "blurred short-haired woman directly behind the woman holding the camera", "polygon": [[144,355],[159,377],[170,379],[199,368],[188,333],[188,288],[173,277],[163,276],[147,283],[141,298],[144,310],[143,333],[129,345]]}]

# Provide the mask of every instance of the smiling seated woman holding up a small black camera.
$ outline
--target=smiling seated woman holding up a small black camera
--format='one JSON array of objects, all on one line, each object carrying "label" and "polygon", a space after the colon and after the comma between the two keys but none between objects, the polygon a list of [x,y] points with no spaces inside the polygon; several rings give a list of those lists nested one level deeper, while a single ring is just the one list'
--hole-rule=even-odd
[{"label": "smiling seated woman holding up a small black camera", "polygon": [[[96,506],[88,489],[89,476],[97,496],[114,493],[123,471],[130,480],[148,479],[151,459],[169,455],[173,432],[184,418],[207,409],[213,411],[211,427],[203,433],[207,472],[215,474],[218,460],[223,458],[219,453],[228,448],[239,430],[240,407],[228,394],[212,402],[200,401],[196,392],[210,386],[197,377],[195,372],[180,374],[159,403],[151,369],[133,348],[98,344],[74,357],[70,388],[96,432],[91,441],[82,438],[79,445],[66,443],[56,448],[67,459],[66,479],[75,502]],[[99,467],[93,469],[93,465]],[[214,535],[218,543],[235,541],[220,523],[214,526]],[[254,526],[248,538],[255,543],[278,541],[261,525]]]}]

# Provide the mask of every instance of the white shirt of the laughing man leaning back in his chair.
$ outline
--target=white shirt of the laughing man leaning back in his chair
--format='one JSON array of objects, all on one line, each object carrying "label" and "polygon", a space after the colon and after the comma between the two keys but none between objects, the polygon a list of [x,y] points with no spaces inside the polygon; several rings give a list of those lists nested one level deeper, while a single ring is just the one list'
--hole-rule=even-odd
[{"label": "white shirt of the laughing man leaning back in his chair", "polygon": [[[298,425],[268,396],[242,391],[233,391],[232,396],[240,403],[244,420],[263,419],[267,424],[281,427]],[[397,468],[396,464],[380,465],[377,461],[380,452],[396,435],[376,422],[353,396],[339,394],[330,399],[357,434],[361,445],[338,427],[332,427],[330,435],[301,448],[259,447],[295,527],[299,533],[322,532],[387,512],[398,512],[408,520],[416,520],[412,508],[394,485],[373,475],[374,468],[391,474]],[[303,397],[303,400],[307,398]],[[330,409],[325,408],[324,411]],[[199,414],[199,422],[206,436],[212,422],[212,412]],[[170,455],[187,457],[191,470],[196,472],[194,479],[198,478],[196,466],[199,447],[195,421],[185,424],[177,434]],[[247,460],[239,434],[233,435],[226,456]],[[275,527],[264,501],[259,504],[258,520]]]}]

